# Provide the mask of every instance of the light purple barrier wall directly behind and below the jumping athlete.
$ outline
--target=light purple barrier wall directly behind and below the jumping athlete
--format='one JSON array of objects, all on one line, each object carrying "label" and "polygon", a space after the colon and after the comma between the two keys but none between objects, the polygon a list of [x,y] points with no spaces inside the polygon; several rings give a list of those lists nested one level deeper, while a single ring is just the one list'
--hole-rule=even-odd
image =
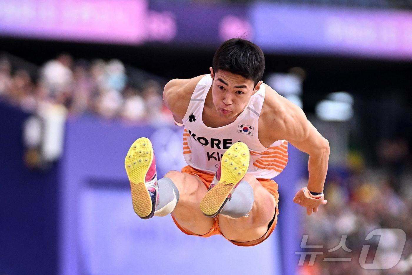
[{"label": "light purple barrier wall directly behind and below the jumping athlete", "polygon": [[[159,177],[185,165],[182,128],[128,127],[90,117],[68,121],[61,163],[61,274],[284,274],[282,257],[292,249],[285,237],[293,231],[283,226],[296,226],[297,216],[286,198],[295,194],[296,151],[290,149],[289,168],[278,180],[287,191],[281,191],[280,221],[273,235],[258,246],[237,247],[221,236],[187,236],[170,216],[136,216],[124,156],[141,136],[152,140]],[[216,253],[231,260],[225,256],[208,261]],[[286,261],[290,270],[292,261]]]}]

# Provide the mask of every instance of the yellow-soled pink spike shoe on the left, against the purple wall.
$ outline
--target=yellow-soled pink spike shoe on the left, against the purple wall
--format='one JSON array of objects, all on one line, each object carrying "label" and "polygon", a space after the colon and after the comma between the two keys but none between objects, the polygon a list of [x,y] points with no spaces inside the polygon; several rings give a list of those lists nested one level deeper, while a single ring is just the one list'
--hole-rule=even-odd
[{"label": "yellow-soled pink spike shoe on the left, against the purple wall", "polygon": [[155,153],[152,142],[140,137],[131,145],[124,160],[130,181],[131,199],[135,213],[142,219],[152,218],[159,198]]}]

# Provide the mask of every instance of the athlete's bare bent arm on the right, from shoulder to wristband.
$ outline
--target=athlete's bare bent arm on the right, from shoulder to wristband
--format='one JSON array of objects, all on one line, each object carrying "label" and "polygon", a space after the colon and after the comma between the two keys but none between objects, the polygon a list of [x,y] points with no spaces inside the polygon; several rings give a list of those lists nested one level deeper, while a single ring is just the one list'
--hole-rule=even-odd
[{"label": "athlete's bare bent arm on the right, from shoulder to wristband", "polygon": [[266,129],[271,131],[271,140],[286,139],[290,144],[302,152],[309,154],[309,182],[308,189],[313,192],[323,192],[326,173],[328,171],[329,142],[310,123],[302,109],[284,97],[277,94],[266,85],[267,90],[272,90],[273,97],[268,102],[269,110],[265,121]]}]

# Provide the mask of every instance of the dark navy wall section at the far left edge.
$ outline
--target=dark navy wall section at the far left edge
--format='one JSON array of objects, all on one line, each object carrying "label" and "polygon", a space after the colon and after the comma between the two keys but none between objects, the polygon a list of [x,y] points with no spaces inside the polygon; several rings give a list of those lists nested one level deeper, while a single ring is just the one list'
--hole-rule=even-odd
[{"label": "dark navy wall section at the far left edge", "polygon": [[58,272],[59,163],[47,171],[24,164],[29,116],[0,101],[0,274]]}]

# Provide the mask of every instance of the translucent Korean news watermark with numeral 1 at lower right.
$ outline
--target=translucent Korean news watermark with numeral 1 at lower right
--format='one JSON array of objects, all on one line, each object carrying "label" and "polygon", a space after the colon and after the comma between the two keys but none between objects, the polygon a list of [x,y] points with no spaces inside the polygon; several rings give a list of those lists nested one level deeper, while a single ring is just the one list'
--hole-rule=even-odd
[{"label": "translucent Korean news watermark with numeral 1 at lower right", "polygon": [[[375,270],[383,270],[393,268],[399,261],[402,256],[403,248],[405,247],[406,242],[406,233],[402,229],[399,228],[378,228],[370,232],[366,237],[365,241],[372,239],[374,236],[379,236],[379,242],[377,244],[377,249],[375,252],[375,256],[373,257],[372,263],[366,263],[368,253],[370,250],[370,245],[365,244],[362,246],[361,254],[354,255],[355,257],[358,256],[358,259],[354,259],[355,261],[358,260],[359,264],[364,269],[375,269]],[[302,249],[323,249],[323,245],[307,245],[309,235],[303,235],[302,242],[300,244],[300,248]],[[346,246],[346,239],[347,235],[342,235],[339,244],[332,249],[328,249],[328,252],[337,251],[338,249],[343,249],[346,252],[351,253],[353,249],[349,249]],[[298,266],[303,266],[307,256],[309,257],[309,266],[313,266],[316,260],[316,256],[323,255],[324,251],[296,251],[295,255],[300,255]],[[388,257],[388,253],[391,254]],[[352,261],[353,256],[351,258],[323,258],[323,261]]]}]

